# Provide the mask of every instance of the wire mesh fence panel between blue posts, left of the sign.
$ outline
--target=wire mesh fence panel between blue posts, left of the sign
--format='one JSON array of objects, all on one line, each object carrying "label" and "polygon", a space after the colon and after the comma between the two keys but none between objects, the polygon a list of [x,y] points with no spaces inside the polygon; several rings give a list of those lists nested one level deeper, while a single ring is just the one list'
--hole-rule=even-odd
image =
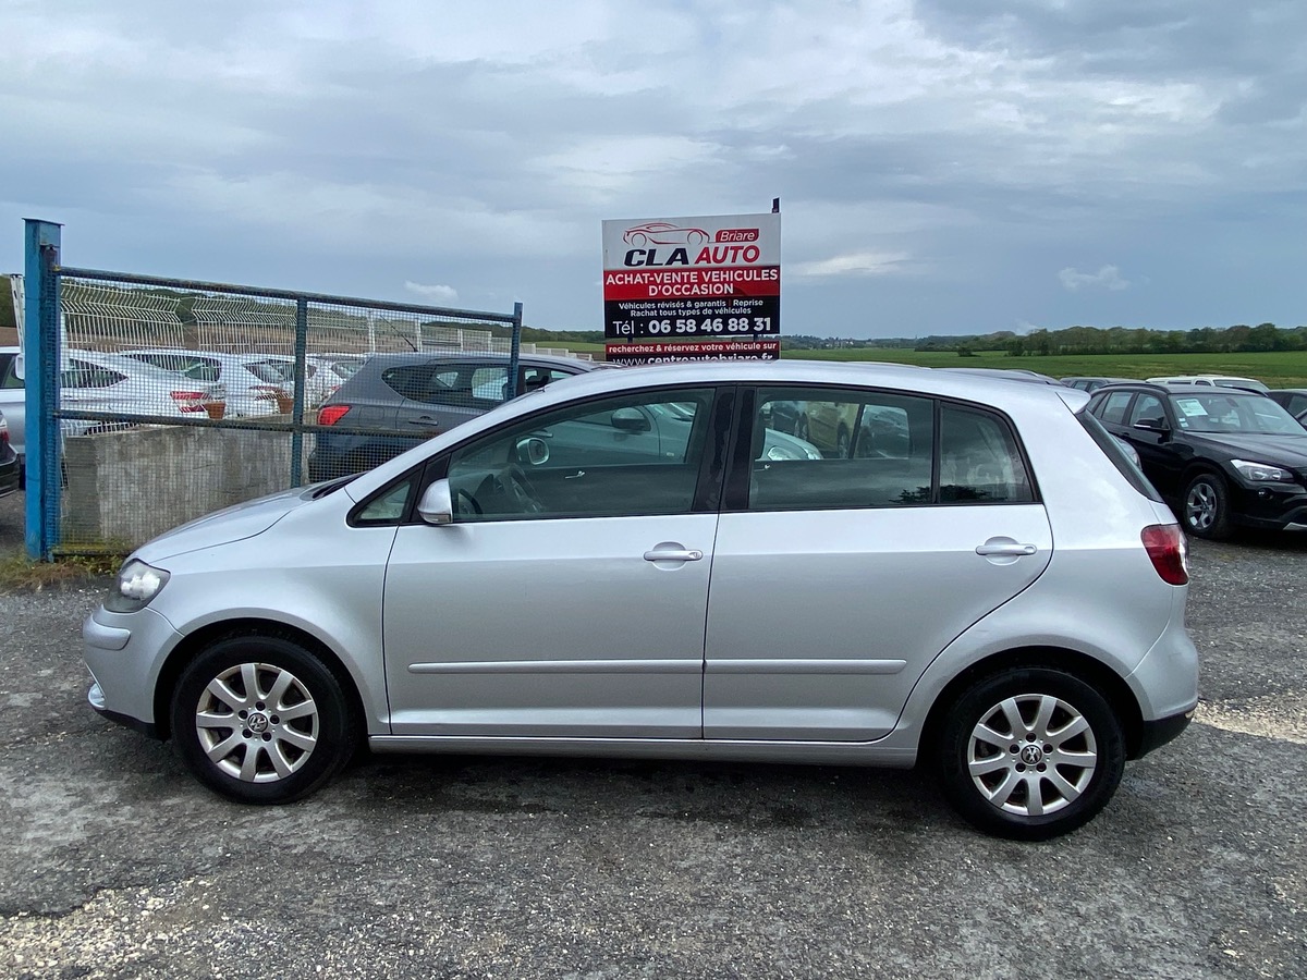
[{"label": "wire mesh fence panel between blue posts, left of the sign", "polygon": [[59,391],[63,551],[129,550],[221,507],[367,469],[588,359],[529,344],[514,357],[520,307],[77,269],[60,270],[56,293],[46,376]]}]

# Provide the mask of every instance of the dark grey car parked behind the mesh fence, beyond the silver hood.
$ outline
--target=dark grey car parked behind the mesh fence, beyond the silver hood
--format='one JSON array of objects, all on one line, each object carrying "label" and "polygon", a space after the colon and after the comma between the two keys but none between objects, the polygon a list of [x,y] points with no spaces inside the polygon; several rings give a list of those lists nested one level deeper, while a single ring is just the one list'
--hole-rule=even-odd
[{"label": "dark grey car parked behind the mesh fence, beyond the silver hood", "polygon": [[[570,357],[524,354],[518,393],[596,365]],[[371,469],[451,426],[503,402],[508,358],[502,354],[375,354],[318,409],[318,433],[308,456],[310,480],[332,480]]]}]

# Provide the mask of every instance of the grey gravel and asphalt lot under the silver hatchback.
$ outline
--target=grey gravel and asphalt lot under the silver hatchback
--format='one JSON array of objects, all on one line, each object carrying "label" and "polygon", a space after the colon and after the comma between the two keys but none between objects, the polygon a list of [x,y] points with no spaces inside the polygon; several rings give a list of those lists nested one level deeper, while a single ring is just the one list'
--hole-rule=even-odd
[{"label": "grey gravel and asphalt lot under the silver hatchback", "polygon": [[105,583],[0,592],[0,976],[1304,977],[1307,540],[1192,572],[1199,723],[1034,845],[817,767],[384,757],[243,808],[86,706]]}]

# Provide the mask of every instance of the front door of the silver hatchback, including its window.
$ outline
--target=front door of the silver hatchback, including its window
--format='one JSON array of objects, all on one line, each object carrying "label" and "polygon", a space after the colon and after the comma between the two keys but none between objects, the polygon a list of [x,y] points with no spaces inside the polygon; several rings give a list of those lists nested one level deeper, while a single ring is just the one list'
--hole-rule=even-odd
[{"label": "front door of the silver hatchback, including its window", "polygon": [[[450,455],[454,523],[401,527],[387,568],[395,734],[701,737],[708,487],[723,455],[704,447],[724,438],[715,397],[550,409]],[[694,417],[676,459],[555,461],[532,442],[548,433],[575,446],[571,430],[593,416],[669,400]]]}]

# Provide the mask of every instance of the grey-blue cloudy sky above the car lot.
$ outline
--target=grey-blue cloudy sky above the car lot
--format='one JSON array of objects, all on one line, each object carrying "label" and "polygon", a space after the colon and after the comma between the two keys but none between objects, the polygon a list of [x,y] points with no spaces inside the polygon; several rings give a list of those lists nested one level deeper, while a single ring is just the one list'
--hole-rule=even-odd
[{"label": "grey-blue cloudy sky above the car lot", "polygon": [[1303,0],[0,0],[0,272],[599,329],[605,218],[770,210],[784,333],[1307,323]]}]

